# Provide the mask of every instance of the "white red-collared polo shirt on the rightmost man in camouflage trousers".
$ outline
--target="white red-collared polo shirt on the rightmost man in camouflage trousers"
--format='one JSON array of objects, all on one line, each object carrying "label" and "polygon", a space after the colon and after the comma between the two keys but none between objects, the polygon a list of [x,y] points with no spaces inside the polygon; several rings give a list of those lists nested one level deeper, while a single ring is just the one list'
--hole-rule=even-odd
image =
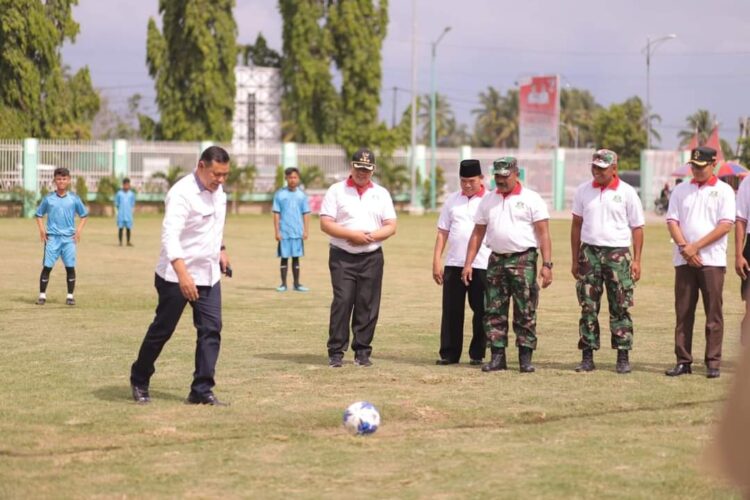
[{"label": "white red-collared polo shirt on the rightmost man in camouflage trousers", "polygon": [[645,224],[638,193],[617,176],[605,187],[596,181],[578,186],[573,215],[583,219],[581,241],[601,247],[630,247],[632,230]]}]

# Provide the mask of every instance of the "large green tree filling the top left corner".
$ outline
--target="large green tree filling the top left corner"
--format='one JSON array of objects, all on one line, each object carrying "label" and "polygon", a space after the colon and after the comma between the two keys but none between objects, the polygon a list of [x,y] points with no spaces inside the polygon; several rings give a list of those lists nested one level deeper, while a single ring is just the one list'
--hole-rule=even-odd
[{"label": "large green tree filling the top left corner", "polygon": [[87,67],[70,75],[60,49],[75,42],[77,0],[0,7],[0,137],[88,138],[99,97]]}]

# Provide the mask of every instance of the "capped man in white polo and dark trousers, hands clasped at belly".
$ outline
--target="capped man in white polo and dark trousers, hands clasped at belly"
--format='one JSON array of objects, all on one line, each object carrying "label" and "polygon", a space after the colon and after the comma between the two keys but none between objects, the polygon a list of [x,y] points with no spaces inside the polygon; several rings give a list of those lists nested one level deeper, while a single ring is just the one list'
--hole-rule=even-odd
[{"label": "capped man in white polo and dark trousers, hands clasped at belly", "polygon": [[380,313],[383,241],[396,233],[391,195],[372,182],[375,155],[360,149],[352,157],[349,178],[326,192],[320,229],[330,236],[328,268],[333,302],[328,326],[328,365],[341,368],[354,337],[354,364],[370,366],[372,339]]}]

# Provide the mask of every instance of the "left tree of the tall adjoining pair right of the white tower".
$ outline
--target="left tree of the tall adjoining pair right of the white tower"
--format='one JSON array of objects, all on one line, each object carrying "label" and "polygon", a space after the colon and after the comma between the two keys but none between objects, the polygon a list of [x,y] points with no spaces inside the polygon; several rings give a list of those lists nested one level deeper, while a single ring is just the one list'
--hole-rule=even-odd
[{"label": "left tree of the tall adjoining pair right of the white tower", "polygon": [[332,42],[324,28],[324,0],[279,0],[283,18],[282,135],[286,141],[334,142],[338,95],[330,63]]}]

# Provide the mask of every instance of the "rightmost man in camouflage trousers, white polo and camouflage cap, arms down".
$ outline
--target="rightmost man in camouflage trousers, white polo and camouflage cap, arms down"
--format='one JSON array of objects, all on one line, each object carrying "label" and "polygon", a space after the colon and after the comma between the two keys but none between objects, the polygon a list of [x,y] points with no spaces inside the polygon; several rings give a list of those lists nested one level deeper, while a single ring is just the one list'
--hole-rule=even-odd
[{"label": "rightmost man in camouflage trousers, white polo and camouflage cap, arms down", "polygon": [[[612,349],[617,350],[617,373],[630,373],[628,352],[633,348],[633,288],[641,275],[643,208],[635,189],[617,176],[617,154],[608,149],[594,153],[592,182],[584,182],[573,198],[570,228],[571,273],[576,279],[581,319],[577,372],[595,369],[599,344],[599,309],[604,290],[609,302]],[[630,245],[633,245],[633,256]]]}]

